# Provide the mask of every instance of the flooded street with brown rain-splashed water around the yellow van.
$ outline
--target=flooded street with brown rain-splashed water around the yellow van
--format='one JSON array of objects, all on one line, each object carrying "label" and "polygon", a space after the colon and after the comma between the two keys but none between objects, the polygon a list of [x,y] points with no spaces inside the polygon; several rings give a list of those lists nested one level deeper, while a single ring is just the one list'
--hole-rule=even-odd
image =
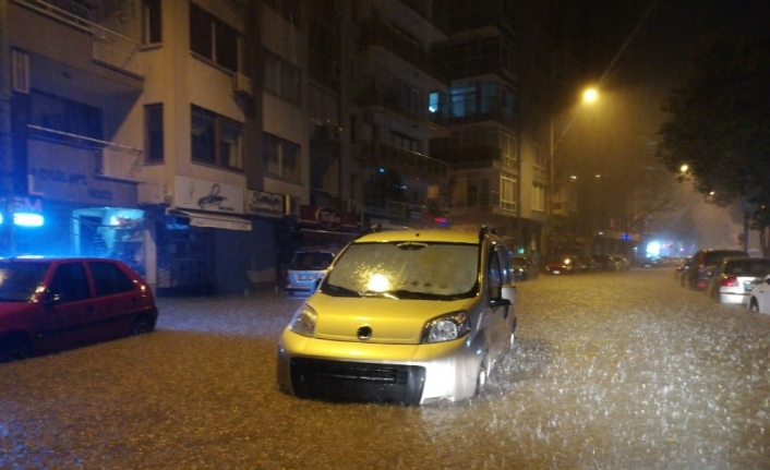
[{"label": "flooded street with brown rain-splashed water around the yellow van", "polygon": [[299,303],[160,299],[151,335],[1,364],[0,468],[770,468],[770,316],[670,268],[520,284],[481,396],[423,408],[277,391]]}]

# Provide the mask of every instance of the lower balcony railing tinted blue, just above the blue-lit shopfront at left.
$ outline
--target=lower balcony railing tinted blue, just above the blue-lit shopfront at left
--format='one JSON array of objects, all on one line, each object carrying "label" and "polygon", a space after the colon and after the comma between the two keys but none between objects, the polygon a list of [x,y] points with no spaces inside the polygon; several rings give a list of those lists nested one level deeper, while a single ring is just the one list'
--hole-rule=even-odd
[{"label": "lower balcony railing tinted blue, just above the blue-lit shopfront at left", "polygon": [[[29,138],[86,148],[94,153],[94,176],[123,181],[142,181],[142,154],[139,148],[84,135],[27,124]],[[62,162],[62,165],[67,165]]]}]

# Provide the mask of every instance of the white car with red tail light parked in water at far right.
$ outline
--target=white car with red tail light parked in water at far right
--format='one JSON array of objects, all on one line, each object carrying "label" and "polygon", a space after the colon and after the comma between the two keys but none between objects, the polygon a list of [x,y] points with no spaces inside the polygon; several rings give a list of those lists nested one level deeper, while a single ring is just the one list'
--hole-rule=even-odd
[{"label": "white car with red tail light parked in water at far right", "polygon": [[747,304],[751,290],[770,274],[770,258],[725,257],[711,275],[705,293],[720,303]]}]

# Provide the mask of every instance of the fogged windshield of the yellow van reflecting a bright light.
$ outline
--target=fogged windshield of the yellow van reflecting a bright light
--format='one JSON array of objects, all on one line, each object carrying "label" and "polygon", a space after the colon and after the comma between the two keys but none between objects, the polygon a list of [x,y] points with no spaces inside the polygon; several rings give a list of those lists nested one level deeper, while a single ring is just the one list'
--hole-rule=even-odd
[{"label": "fogged windshield of the yellow van reflecting a bright light", "polygon": [[478,278],[477,244],[353,243],[337,260],[326,285],[349,294],[443,298],[473,294]]}]

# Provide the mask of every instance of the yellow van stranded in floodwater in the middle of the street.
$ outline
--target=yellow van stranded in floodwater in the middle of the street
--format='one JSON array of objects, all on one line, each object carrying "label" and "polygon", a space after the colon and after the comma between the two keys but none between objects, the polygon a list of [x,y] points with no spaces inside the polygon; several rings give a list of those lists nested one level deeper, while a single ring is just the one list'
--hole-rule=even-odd
[{"label": "yellow van stranded in floodwater in the middle of the street", "polygon": [[514,342],[515,301],[508,249],[484,228],[363,234],[282,332],[278,386],[325,400],[467,399]]}]

